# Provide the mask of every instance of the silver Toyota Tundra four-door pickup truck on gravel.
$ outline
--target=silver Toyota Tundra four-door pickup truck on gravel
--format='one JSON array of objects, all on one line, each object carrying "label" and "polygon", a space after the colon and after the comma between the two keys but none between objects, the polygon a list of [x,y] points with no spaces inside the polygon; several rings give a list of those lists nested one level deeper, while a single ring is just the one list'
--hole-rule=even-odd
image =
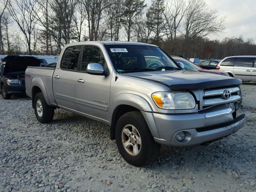
[{"label": "silver Toyota Tundra four-door pickup truck on gravel", "polygon": [[54,109],[62,108],[106,123],[122,157],[135,166],[154,162],[160,144],[214,142],[246,121],[236,116],[239,79],[183,70],[150,44],[68,44],[56,68],[28,67],[25,78],[39,122],[52,121]]}]

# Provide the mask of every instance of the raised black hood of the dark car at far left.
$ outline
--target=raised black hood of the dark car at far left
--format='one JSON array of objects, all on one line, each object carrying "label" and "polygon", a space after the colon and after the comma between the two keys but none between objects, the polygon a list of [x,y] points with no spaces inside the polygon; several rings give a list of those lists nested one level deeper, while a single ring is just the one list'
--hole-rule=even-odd
[{"label": "raised black hood of the dark car at far left", "polygon": [[6,60],[4,74],[26,71],[28,66],[40,66],[40,60],[32,56],[18,56]]}]

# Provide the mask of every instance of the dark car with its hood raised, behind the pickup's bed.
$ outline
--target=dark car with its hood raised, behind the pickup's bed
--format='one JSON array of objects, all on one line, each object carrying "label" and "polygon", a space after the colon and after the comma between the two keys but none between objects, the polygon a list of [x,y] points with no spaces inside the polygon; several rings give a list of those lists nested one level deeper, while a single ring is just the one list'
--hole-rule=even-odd
[{"label": "dark car with its hood raised, behind the pickup's bed", "polygon": [[25,70],[27,66],[39,66],[40,60],[30,56],[5,58],[0,64],[0,87],[3,99],[12,95],[26,94]]}]

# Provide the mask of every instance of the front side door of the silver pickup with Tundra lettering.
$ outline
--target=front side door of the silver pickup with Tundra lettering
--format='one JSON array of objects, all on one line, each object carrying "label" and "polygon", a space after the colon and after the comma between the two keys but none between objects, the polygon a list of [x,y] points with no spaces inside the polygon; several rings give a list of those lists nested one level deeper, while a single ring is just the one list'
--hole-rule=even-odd
[{"label": "front side door of the silver pickup with Tundra lettering", "polygon": [[97,117],[109,121],[110,81],[109,76],[93,75],[86,72],[87,65],[98,63],[107,70],[104,55],[99,47],[85,45],[82,53],[80,72],[76,81],[77,111],[90,117]]}]

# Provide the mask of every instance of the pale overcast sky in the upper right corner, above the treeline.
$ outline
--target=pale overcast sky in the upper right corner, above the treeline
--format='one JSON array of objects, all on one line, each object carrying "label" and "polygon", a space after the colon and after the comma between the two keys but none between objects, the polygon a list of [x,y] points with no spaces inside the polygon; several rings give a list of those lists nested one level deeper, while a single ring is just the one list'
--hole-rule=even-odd
[{"label": "pale overcast sky in the upper right corner, above the treeline", "polygon": [[[256,42],[256,0],[205,0],[211,9],[218,10],[220,16],[226,16],[225,32],[213,39],[225,37],[252,38]],[[151,0],[145,0],[150,5]]]}]

